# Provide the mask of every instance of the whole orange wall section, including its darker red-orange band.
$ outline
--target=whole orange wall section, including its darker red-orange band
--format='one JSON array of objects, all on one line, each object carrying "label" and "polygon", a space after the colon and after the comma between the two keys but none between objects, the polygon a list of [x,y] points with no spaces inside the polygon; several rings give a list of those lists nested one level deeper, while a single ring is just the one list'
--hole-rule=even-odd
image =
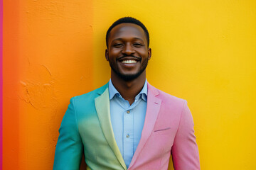
[{"label": "whole orange wall section, including its darker red-orange band", "polygon": [[92,2],[4,1],[4,169],[52,169],[72,96],[92,90]]}]

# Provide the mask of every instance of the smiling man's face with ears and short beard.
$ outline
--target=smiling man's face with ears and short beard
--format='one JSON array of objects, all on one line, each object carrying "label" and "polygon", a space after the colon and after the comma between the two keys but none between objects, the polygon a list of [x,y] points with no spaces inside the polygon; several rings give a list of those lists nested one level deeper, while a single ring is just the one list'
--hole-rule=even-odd
[{"label": "smiling man's face with ears and short beard", "polygon": [[126,81],[136,79],[151,57],[144,30],[134,23],[121,23],[110,31],[107,61],[115,74]]}]

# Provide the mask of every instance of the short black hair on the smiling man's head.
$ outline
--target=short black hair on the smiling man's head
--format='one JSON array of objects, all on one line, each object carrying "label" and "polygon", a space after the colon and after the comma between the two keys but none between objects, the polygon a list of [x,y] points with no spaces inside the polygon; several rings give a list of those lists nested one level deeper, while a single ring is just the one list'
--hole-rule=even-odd
[{"label": "short black hair on the smiling man's head", "polygon": [[107,34],[106,34],[106,45],[107,45],[107,47],[108,47],[107,40],[109,38],[110,31],[112,30],[112,28],[119,25],[120,23],[134,23],[134,24],[140,26],[144,30],[144,33],[146,34],[146,41],[147,41],[147,45],[149,47],[149,31],[146,29],[146,27],[144,26],[144,24],[141,21],[137,20],[136,18],[129,17],[129,16],[124,17],[124,18],[119,18],[119,20],[112,23],[110,28],[108,28]]}]

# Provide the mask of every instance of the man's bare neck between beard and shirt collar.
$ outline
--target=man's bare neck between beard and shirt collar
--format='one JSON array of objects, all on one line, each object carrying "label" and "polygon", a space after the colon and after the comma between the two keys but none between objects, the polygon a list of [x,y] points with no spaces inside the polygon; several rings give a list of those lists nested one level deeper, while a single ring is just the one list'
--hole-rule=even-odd
[{"label": "man's bare neck between beard and shirt collar", "polygon": [[118,77],[117,74],[111,72],[111,81],[114,85],[114,88],[117,89],[119,94],[121,94],[121,96],[125,100],[129,101],[130,105],[132,105],[135,96],[137,96],[137,94],[142,91],[142,88],[145,84],[146,70],[144,70],[144,72],[142,72],[139,77],[131,81],[124,81],[124,79]]}]

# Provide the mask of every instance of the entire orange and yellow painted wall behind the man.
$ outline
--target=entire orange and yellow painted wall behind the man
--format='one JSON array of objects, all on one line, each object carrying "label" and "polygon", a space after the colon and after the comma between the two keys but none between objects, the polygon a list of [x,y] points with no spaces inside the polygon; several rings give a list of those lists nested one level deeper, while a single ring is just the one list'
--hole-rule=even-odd
[{"label": "entire orange and yellow painted wall behind the man", "polygon": [[110,79],[105,32],[123,16],[149,29],[149,83],[188,101],[201,169],[256,169],[252,0],[4,0],[4,169],[52,169],[70,97]]}]

